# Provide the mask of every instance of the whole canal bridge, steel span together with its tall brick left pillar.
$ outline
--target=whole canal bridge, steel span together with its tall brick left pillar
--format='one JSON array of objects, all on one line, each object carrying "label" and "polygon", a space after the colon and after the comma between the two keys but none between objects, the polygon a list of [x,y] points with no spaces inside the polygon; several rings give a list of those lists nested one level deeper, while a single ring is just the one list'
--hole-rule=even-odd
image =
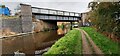
[{"label": "whole canal bridge, steel span together with its tall brick left pillar", "polygon": [[[21,19],[23,23],[23,30],[26,31],[27,28],[32,27],[32,18],[39,19],[46,23],[47,25],[56,25],[57,22],[70,22],[72,29],[72,22],[79,22],[81,20],[81,13],[38,8],[32,7],[27,4],[20,4],[21,6]],[[55,26],[55,27],[56,27]],[[29,30],[30,31],[30,30]],[[27,31],[28,32],[28,31]]]}]

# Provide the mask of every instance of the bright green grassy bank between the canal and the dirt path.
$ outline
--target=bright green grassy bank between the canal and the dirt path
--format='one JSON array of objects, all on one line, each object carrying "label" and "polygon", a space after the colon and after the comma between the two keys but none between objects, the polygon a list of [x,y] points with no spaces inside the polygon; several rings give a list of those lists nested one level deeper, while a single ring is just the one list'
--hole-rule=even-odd
[{"label": "bright green grassy bank between the canal and the dirt path", "polygon": [[74,54],[81,54],[81,44],[81,34],[79,30],[74,29],[59,39],[48,52],[44,53],[44,56],[57,56],[58,54],[73,56]]}]

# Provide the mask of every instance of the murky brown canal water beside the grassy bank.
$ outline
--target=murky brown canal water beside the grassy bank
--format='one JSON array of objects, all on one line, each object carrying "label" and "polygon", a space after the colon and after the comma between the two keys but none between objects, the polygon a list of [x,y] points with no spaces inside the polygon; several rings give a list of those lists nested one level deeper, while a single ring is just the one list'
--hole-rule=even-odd
[{"label": "murky brown canal water beside the grassy bank", "polygon": [[36,50],[50,47],[60,37],[62,36],[58,35],[56,30],[51,30],[3,38],[0,39],[2,42],[2,54],[3,56],[10,56],[15,52],[21,52],[32,55]]}]

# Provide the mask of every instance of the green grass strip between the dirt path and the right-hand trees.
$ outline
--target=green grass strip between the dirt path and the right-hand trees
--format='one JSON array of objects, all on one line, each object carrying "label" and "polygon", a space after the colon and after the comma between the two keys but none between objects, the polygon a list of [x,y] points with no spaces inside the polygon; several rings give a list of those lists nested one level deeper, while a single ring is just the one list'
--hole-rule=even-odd
[{"label": "green grass strip between the dirt path and the right-hand trees", "polygon": [[81,29],[85,30],[90,35],[92,40],[103,51],[104,54],[119,54],[118,42],[110,40],[105,35],[95,31],[94,28],[81,27]]}]

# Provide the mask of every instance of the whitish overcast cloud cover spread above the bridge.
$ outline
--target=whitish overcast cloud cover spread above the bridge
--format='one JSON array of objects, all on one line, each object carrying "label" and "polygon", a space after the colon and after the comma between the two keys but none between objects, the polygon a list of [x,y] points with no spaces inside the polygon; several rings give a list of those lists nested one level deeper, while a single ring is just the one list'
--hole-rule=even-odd
[{"label": "whitish overcast cloud cover spread above the bridge", "polygon": [[[53,0],[52,0],[53,1]],[[15,8],[21,2],[3,2],[2,4],[9,7],[12,13],[15,12]],[[89,2],[22,2],[32,5],[32,7],[49,8],[70,12],[85,12]]]}]

